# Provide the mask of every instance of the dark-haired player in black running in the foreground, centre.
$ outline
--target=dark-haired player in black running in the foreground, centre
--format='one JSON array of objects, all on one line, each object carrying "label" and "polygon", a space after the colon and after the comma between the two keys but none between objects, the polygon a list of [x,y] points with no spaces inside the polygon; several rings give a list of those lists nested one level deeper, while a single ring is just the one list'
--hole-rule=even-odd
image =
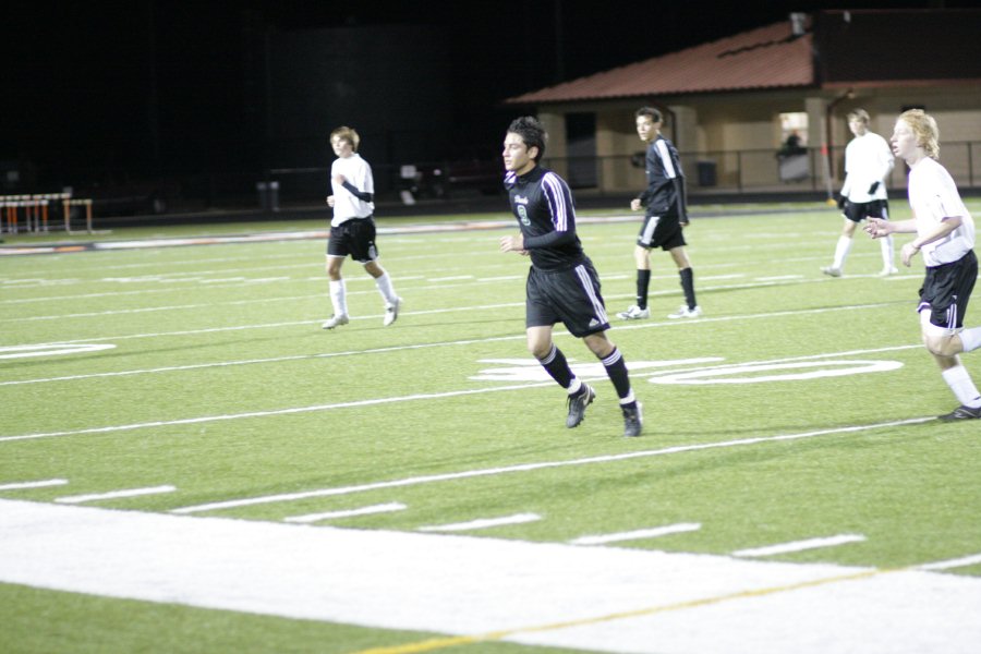
[{"label": "dark-haired player in black running in the foreground, centre", "polygon": [[600,294],[600,277],[576,235],[572,193],[565,180],[538,166],[546,138],[537,120],[518,118],[508,128],[502,154],[505,186],[521,231],[501,238],[500,251],[530,256],[532,263],[525,287],[528,349],[568,391],[566,426],[578,426],[596,391],[572,373],[552,339],[555,324],[565,324],[606,367],[620,398],[623,435],[640,436],[641,405],[630,387],[623,356],[606,338],[609,320]]}]

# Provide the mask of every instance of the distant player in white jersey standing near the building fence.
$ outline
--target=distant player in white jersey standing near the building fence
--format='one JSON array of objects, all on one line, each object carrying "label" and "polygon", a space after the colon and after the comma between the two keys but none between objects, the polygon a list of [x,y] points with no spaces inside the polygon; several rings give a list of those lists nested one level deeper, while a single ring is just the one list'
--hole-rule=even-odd
[{"label": "distant player in white jersey standing near the building fence", "polygon": [[[845,147],[845,182],[838,198],[845,225],[835,247],[834,262],[831,266],[821,268],[822,272],[831,277],[841,277],[859,222],[865,218],[887,220],[889,217],[885,179],[895,161],[889,144],[879,134],[869,131],[869,112],[864,109],[856,109],[848,114],[848,129],[855,138]],[[898,270],[893,265],[893,238],[883,238],[881,247],[882,270],[879,275],[895,275]]]}]

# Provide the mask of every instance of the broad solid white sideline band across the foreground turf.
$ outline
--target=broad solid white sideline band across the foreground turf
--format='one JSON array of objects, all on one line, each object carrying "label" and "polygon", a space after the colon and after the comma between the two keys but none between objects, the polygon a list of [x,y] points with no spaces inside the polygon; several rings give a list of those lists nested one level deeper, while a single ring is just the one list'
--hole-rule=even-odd
[{"label": "broad solid white sideline band across the foreground turf", "polygon": [[973,654],[981,642],[981,580],[916,569],[11,500],[0,533],[3,583],[415,631],[412,645],[434,632],[448,638],[426,644],[621,654]]}]

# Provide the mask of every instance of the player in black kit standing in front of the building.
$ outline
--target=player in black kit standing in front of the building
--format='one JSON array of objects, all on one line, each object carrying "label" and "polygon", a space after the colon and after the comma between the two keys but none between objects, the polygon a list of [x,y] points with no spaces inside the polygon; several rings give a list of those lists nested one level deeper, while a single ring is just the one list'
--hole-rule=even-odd
[{"label": "player in black kit standing in front of the building", "polygon": [[688,209],[685,207],[685,174],[678,150],[670,141],[661,135],[664,118],[653,107],[641,107],[634,112],[637,135],[647,144],[644,170],[647,187],[630,202],[630,210],[644,210],[644,223],[637,238],[633,259],[637,263],[637,304],[618,315],[625,320],[651,317],[647,308],[647,289],[651,286],[651,250],[661,247],[668,252],[678,266],[685,304],[668,314],[669,318],[697,318],[702,308],[695,302],[694,274],[685,253],[685,235],[681,228],[687,226]]}]

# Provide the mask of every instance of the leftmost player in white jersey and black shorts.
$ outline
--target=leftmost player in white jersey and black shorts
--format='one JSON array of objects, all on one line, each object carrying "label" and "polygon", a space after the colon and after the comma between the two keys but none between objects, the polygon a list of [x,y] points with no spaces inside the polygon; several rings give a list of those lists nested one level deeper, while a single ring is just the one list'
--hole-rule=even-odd
[{"label": "leftmost player in white jersey and black shorts", "polygon": [[330,239],[327,241],[327,278],[330,282],[330,303],[334,316],[324,323],[324,329],[334,329],[350,322],[348,316],[348,290],[341,277],[341,264],[350,255],[364,265],[375,278],[375,286],[385,301],[383,325],[388,327],[399,317],[402,299],[396,295],[391,278],[378,264],[375,245],[375,181],[372,167],[358,154],[361,137],[351,128],[341,126],[330,133],[330,146],[337,159],[330,166],[331,194],[327,204],[334,207],[330,220]]}]

